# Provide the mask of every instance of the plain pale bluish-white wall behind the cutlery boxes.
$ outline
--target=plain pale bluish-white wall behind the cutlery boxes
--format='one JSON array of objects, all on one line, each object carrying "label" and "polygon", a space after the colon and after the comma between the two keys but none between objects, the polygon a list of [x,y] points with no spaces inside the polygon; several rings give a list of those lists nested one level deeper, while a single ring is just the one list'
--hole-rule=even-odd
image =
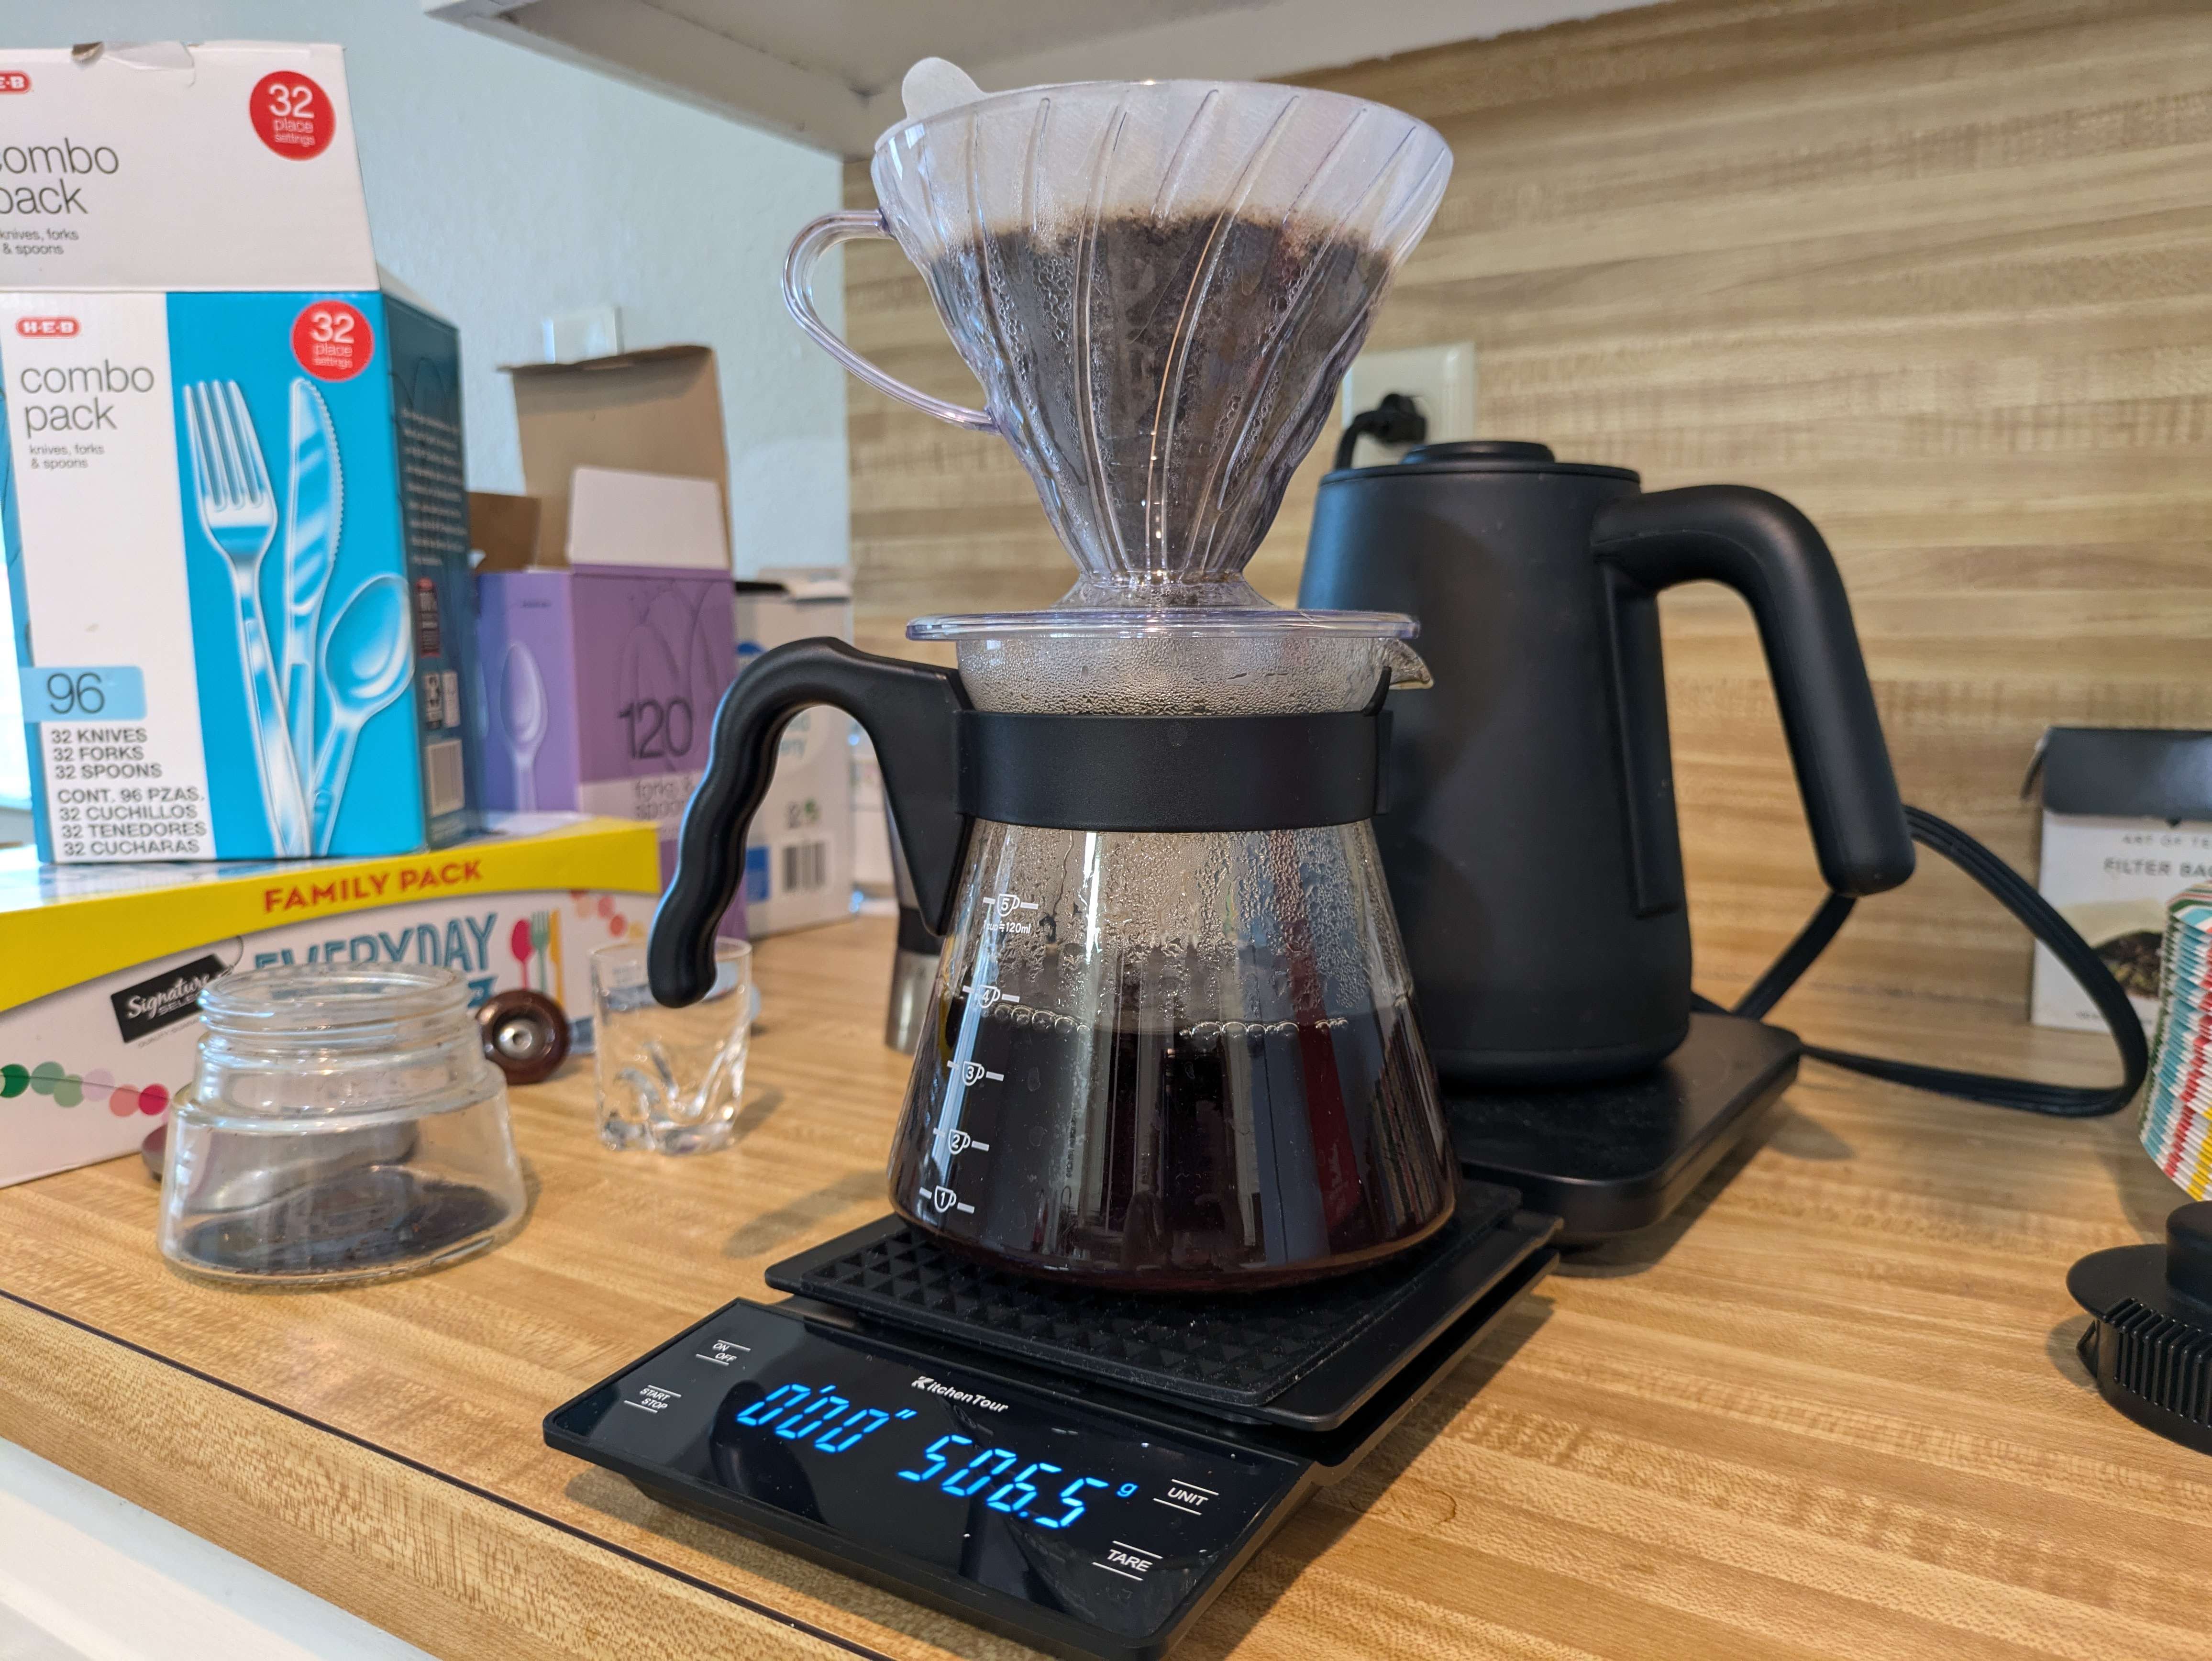
[{"label": "plain pale bluish-white wall behind the cutlery boxes", "polygon": [[[834,157],[434,22],[416,0],[0,0],[0,49],[102,38],[345,46],[376,259],[460,325],[469,484],[522,489],[498,365],[542,356],[549,312],[613,301],[626,345],[714,347],[739,571],[843,564],[845,376],[779,290],[792,234],[838,206]],[[834,268],[818,299],[836,323]],[[13,699],[9,672],[0,798],[24,790]]]}]

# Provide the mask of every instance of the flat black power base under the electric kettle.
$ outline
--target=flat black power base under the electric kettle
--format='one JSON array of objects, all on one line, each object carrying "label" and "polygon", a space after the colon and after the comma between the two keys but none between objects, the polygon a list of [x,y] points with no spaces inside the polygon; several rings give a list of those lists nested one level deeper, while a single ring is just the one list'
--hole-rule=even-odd
[{"label": "flat black power base under the electric kettle", "polygon": [[1460,1170],[1564,1219],[1562,1245],[1650,1228],[1759,1130],[1796,1079],[1796,1033],[1743,1015],[1692,1015],[1659,1066],[1610,1084],[1511,1090],[1444,1086]]}]

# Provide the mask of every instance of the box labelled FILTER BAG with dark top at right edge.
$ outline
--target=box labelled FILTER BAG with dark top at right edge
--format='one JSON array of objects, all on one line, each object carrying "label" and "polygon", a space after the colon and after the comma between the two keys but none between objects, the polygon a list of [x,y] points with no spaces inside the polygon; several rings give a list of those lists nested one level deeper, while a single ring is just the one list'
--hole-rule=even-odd
[{"label": "box labelled FILTER BAG with dark top at right edge", "polygon": [[[2051,728],[2028,770],[2044,787],[2037,889],[2097,951],[2143,1031],[2159,1017],[2166,902],[2212,878],[2212,732]],[[2104,1017],[2035,947],[2031,1020],[2101,1033]]]}]

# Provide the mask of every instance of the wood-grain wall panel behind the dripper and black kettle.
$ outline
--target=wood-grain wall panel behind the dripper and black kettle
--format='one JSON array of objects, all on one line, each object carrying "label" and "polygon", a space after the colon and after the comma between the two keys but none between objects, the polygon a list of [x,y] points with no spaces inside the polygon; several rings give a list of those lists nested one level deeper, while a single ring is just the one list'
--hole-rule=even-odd
[{"label": "wood-grain wall panel behind the dripper and black kettle", "polygon": [[[2212,725],[2203,0],[1679,0],[1312,82],[1455,153],[1374,345],[1473,338],[1486,436],[1812,513],[1907,801],[2033,871],[2017,790],[2044,725]],[[872,201],[865,168],[847,195]],[[973,400],[898,252],[847,259],[854,345]],[[865,644],[1066,586],[1002,445],[858,385],[849,409]],[[1296,591],[1329,438],[1254,562],[1270,597]],[[1818,880],[1747,613],[1699,588],[1663,615],[1721,995]],[[2017,1011],[2028,947],[1924,858],[1816,973]]]}]

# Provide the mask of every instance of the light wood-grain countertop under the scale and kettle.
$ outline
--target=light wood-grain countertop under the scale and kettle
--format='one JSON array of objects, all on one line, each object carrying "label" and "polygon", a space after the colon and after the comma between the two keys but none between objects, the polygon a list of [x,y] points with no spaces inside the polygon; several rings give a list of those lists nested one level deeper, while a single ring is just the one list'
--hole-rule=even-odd
[{"label": "light wood-grain countertop under the scale and kettle", "polygon": [[[0,1435],[440,1657],[1015,1657],[672,1515],[540,1418],[883,1210],[887,922],[768,940],[739,1143],[515,1093],[529,1228],[396,1285],[217,1292],[111,1161],[0,1190]],[[2101,1040],[1807,991],[1825,1042],[2097,1075]],[[2212,1460],[2108,1411],[2066,1267],[2179,1203],[2119,1119],[1807,1064],[1650,1239],[1562,1267],[1221,1595],[1210,1657],[2212,1657]]]}]

